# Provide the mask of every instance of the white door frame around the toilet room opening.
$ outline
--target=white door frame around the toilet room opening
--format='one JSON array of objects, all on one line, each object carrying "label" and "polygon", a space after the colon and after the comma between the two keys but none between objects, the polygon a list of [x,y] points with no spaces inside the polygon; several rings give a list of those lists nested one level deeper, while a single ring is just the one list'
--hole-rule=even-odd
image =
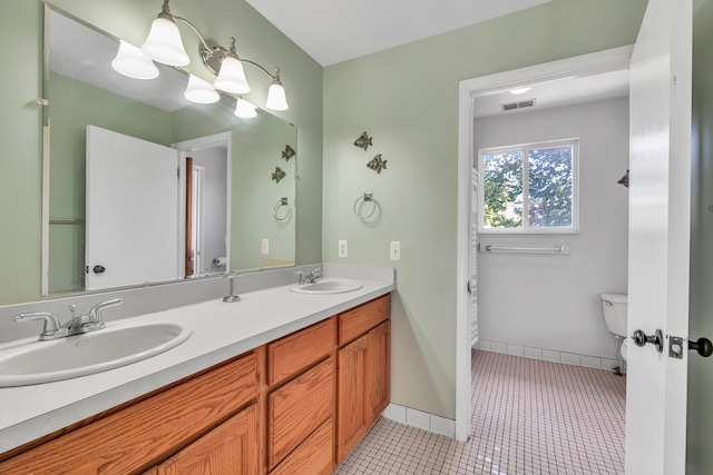
[{"label": "white door frame around the toilet room opening", "polygon": [[634,46],[613,48],[588,55],[527,68],[514,69],[459,83],[458,110],[458,234],[456,264],[456,439],[467,441],[470,435],[471,367],[470,315],[467,283],[470,278],[468,250],[470,246],[470,181],[475,150],[472,144],[472,99],[525,83],[546,82],[577,76],[592,76],[628,69]]}]

